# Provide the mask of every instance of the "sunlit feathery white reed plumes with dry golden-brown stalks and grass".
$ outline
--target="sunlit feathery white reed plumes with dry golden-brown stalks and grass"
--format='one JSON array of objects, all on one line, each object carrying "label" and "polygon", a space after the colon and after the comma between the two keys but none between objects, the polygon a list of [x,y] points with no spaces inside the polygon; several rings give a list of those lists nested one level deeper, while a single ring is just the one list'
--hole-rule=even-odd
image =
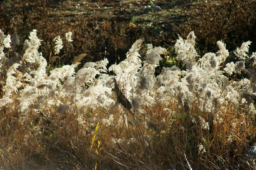
[{"label": "sunlit feathery white reed plumes with dry golden-brown stalks and grass", "polygon": [[[1,168],[255,168],[245,152],[255,142],[250,41],[234,53],[218,41],[218,51],[199,56],[191,32],[174,46],[182,69],[156,75],[166,49],[148,45],[141,61],[141,39],[119,64],[107,69],[104,59],[76,71],[85,54],[53,69],[36,30],[28,38],[18,51],[18,35],[0,30]],[[54,40],[56,55],[62,38]],[[72,33],[64,38],[71,43]],[[228,63],[230,55],[236,61]]]}]

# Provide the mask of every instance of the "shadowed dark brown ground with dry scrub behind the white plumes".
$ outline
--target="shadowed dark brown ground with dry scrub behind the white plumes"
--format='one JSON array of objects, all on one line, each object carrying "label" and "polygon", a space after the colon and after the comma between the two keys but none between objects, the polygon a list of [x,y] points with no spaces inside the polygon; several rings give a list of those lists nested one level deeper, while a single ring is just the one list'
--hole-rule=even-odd
[{"label": "shadowed dark brown ground with dry scrub behind the white plumes", "polygon": [[[254,0],[4,0],[0,3],[0,29],[10,35],[16,32],[20,42],[37,29],[37,36],[43,40],[40,51],[52,65],[70,64],[81,53],[87,54],[83,62],[108,58],[110,64],[115,63],[125,58],[139,38],[145,43],[142,57],[147,43],[167,48],[172,55],[178,34],[185,38],[190,31],[197,36],[196,48],[201,55],[217,52],[218,40],[223,40],[229,51],[250,40],[250,52],[256,51]],[[148,7],[153,4],[163,11]],[[73,33],[72,45],[65,41],[65,33],[69,31]],[[53,39],[58,35],[64,48],[54,57]]]}]

